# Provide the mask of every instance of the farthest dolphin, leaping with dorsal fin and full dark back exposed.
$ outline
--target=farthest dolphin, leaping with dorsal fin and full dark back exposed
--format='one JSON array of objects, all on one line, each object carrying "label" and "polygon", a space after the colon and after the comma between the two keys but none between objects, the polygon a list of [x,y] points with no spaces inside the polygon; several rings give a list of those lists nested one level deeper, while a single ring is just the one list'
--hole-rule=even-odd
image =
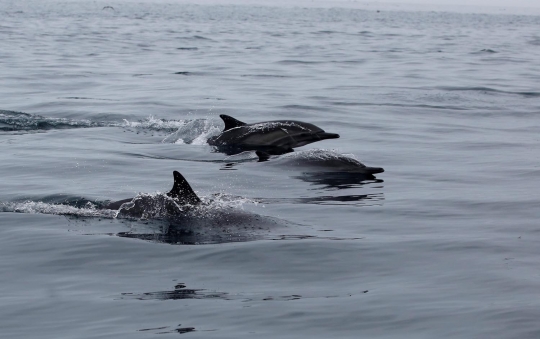
[{"label": "farthest dolphin, leaping with dorsal fin and full dark back exposed", "polygon": [[302,121],[275,120],[246,124],[228,115],[222,114],[220,117],[225,122],[225,129],[220,135],[209,138],[208,144],[228,154],[246,150],[283,154],[312,142],[339,138],[339,134],[326,133]]}]

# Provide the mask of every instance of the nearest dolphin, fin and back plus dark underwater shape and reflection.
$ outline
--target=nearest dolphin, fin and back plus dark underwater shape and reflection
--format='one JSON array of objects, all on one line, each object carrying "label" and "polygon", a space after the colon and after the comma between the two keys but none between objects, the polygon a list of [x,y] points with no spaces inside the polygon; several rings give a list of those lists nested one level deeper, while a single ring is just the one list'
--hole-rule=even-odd
[{"label": "nearest dolphin, fin and back plus dark underwater shape and reflection", "polygon": [[119,218],[146,221],[131,225],[129,232],[117,236],[169,244],[226,243],[271,237],[272,231],[284,230],[287,225],[283,220],[219,202],[201,202],[186,179],[177,171],[173,173],[174,186],[166,194],[141,193],[103,207],[118,210]]}]

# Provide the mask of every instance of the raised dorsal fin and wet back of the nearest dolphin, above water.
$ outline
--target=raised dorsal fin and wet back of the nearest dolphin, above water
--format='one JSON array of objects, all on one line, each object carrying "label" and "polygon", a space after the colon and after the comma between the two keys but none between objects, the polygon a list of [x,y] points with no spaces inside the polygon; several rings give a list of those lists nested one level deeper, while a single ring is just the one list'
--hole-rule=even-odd
[{"label": "raised dorsal fin and wet back of the nearest dolphin, above water", "polygon": [[173,172],[173,188],[162,199],[156,197],[137,196],[131,199],[124,199],[109,203],[103,206],[104,209],[118,210],[120,216],[141,218],[145,213],[156,210],[161,207],[170,214],[180,211],[182,206],[197,205],[201,199],[195,194],[187,180],[177,171]]}]

